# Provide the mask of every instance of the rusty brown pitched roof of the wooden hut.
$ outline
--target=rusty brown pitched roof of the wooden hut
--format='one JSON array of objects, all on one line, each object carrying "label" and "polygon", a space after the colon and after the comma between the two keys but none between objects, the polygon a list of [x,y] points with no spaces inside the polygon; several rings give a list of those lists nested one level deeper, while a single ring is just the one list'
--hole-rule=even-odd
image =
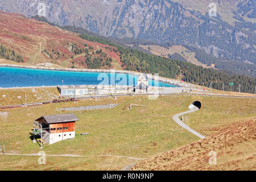
[{"label": "rusty brown pitched roof of the wooden hut", "polygon": [[43,115],[35,121],[39,121],[42,118],[44,118],[48,124],[79,121],[75,114]]}]

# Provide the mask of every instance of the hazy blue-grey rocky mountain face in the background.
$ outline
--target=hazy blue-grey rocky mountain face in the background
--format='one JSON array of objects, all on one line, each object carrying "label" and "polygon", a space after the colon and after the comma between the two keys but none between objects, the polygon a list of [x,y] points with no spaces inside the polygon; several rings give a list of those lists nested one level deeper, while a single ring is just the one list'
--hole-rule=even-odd
[{"label": "hazy blue-grey rocky mountain face in the background", "polygon": [[[221,60],[256,63],[256,26],[246,22],[248,18],[255,22],[256,3],[253,0],[228,2],[236,5],[230,7],[232,19],[237,20],[232,24],[222,20],[218,9],[216,17],[209,17],[212,7],[206,6],[204,13],[193,10],[192,5],[181,4],[181,0],[0,0],[0,9],[28,17],[46,16],[50,22],[83,27],[104,36],[140,38],[167,46],[188,45]],[[216,1],[216,5],[229,6],[221,1]]]}]

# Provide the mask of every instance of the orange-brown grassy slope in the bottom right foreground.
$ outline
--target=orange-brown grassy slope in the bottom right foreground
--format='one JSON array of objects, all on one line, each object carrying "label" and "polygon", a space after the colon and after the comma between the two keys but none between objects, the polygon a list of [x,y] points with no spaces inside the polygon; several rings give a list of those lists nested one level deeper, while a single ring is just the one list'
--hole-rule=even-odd
[{"label": "orange-brown grassy slope in the bottom right foreground", "polygon": [[[255,170],[256,118],[226,126],[205,139],[141,160],[134,170]],[[209,152],[216,152],[210,165]]]}]

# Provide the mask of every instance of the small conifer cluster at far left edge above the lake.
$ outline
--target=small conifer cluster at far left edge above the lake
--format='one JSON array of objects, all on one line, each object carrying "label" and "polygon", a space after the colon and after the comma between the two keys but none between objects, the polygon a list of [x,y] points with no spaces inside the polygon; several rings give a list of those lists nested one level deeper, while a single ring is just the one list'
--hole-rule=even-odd
[{"label": "small conifer cluster at far left edge above the lake", "polygon": [[0,46],[0,57],[15,61],[15,62],[24,62],[23,56],[20,55],[19,53],[16,53],[14,50],[6,48],[5,46]]}]

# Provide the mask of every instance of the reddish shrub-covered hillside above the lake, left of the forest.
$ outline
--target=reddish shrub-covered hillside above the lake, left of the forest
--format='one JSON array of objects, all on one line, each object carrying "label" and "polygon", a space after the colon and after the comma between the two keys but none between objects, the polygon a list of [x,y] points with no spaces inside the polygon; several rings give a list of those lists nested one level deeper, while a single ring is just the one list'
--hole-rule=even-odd
[{"label": "reddish shrub-covered hillside above the lake, left of the forest", "polygon": [[[77,34],[19,14],[0,12],[0,38],[4,48],[22,55],[23,62],[29,64],[91,68],[95,67],[89,65],[93,60],[100,64],[98,68],[110,68],[110,60],[119,61],[119,54],[112,51],[114,47],[106,48],[104,44],[83,40]],[[11,51],[2,53],[6,59],[11,56]]]}]

